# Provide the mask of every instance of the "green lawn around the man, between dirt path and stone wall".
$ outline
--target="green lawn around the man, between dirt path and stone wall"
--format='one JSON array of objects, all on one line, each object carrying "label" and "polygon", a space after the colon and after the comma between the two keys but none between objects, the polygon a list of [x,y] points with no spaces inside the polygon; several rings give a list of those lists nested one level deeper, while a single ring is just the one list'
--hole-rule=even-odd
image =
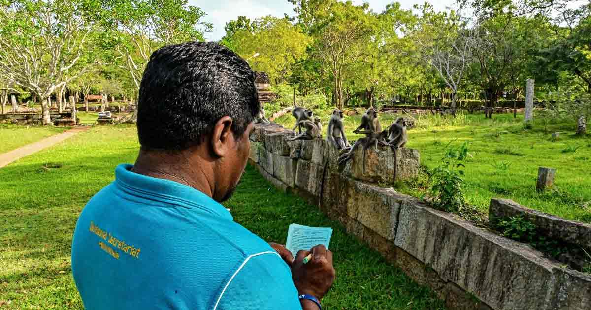
[{"label": "green lawn around the man, between dirt path and stone wall", "polygon": [[[70,270],[74,224],[116,165],[133,162],[137,152],[134,126],[100,126],[0,169],[0,309],[82,308]],[[61,168],[41,168],[47,163]],[[335,229],[337,280],[323,299],[326,309],[444,309],[432,291],[252,167],[225,205],[269,241],[284,242],[291,223]]]}]

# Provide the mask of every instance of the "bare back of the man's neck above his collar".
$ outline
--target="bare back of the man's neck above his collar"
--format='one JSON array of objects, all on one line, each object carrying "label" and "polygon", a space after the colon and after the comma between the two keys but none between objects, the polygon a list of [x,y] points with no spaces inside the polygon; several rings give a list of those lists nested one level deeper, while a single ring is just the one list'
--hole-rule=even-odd
[{"label": "bare back of the man's neck above his collar", "polygon": [[204,171],[204,169],[211,169],[211,166],[206,161],[203,161],[203,165],[191,165],[191,167],[187,167],[188,163],[182,151],[170,155],[158,151],[141,150],[131,171],[148,177],[175,181],[213,197],[214,184],[206,177],[211,174],[206,174]]}]

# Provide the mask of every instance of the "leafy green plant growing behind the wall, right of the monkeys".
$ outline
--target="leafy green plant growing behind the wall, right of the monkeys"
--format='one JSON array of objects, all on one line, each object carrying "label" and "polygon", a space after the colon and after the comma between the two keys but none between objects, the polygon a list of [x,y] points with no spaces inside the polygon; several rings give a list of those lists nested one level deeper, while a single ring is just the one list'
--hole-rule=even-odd
[{"label": "leafy green plant growing behind the wall, right of the monkeys", "polygon": [[465,175],[462,168],[465,167],[463,161],[469,156],[469,153],[468,142],[464,142],[456,148],[449,147],[450,143],[447,145],[445,155],[441,158],[440,166],[431,171],[431,178],[434,182],[429,192],[434,197],[434,207],[456,212],[465,210],[467,207],[462,191],[463,176]]}]

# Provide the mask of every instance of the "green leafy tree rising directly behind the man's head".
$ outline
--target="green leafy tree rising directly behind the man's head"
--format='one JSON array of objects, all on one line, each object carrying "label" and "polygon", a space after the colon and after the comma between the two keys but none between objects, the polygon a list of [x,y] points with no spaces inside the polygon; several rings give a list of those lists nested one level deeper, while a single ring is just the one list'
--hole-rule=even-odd
[{"label": "green leafy tree rising directly behind the man's head", "polygon": [[[204,15],[186,0],[115,0],[104,1],[98,17],[106,44],[115,50],[114,60],[121,61],[139,91],[145,67],[157,48],[203,41],[203,34],[212,29],[201,20]],[[134,113],[132,120],[136,118]]]}]

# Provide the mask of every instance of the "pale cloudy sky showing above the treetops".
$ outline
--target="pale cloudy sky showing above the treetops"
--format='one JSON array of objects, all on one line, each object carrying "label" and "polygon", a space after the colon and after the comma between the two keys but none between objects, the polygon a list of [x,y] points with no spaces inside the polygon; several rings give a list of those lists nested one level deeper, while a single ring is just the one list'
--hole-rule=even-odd
[{"label": "pale cloudy sky showing above the treetops", "polygon": [[[414,4],[423,4],[426,0],[398,0],[403,9],[411,9]],[[374,12],[381,12],[386,5],[395,0],[353,0],[355,4],[368,2]],[[455,8],[455,0],[433,0],[429,1],[437,11],[446,9],[446,7]],[[284,13],[290,16],[294,15],[293,5],[287,0],[189,0],[190,5],[201,8],[207,15],[203,21],[212,22],[213,32],[205,34],[207,41],[217,41],[226,33],[223,27],[226,22],[244,15],[250,19],[255,19],[265,15],[282,17]]]}]

